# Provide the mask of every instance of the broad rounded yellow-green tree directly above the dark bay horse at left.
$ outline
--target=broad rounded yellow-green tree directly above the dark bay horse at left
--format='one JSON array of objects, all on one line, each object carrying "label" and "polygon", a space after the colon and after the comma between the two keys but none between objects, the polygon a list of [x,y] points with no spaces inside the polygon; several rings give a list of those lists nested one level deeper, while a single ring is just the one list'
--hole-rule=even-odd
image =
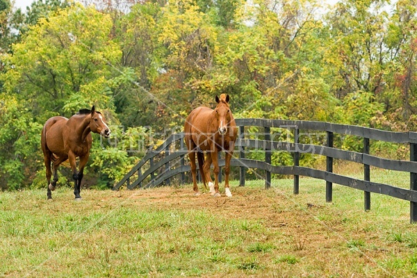
[{"label": "broad rounded yellow-green tree directly above the dark bay horse at left", "polygon": [[6,58],[6,92],[30,100],[41,122],[91,104],[112,108],[106,80],[117,74],[121,52],[108,40],[111,27],[108,16],[80,5],[41,18]]}]

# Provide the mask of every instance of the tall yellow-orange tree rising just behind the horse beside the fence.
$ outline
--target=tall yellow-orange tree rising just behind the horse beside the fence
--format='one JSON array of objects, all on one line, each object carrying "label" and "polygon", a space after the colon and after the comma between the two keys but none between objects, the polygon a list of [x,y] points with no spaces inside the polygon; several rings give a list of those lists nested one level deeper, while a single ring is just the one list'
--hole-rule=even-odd
[{"label": "tall yellow-orange tree rising just behind the horse beside the fence", "polygon": [[152,123],[157,129],[181,126],[186,113],[207,104],[206,95],[213,93],[206,80],[218,30],[199,6],[184,0],[170,1],[162,8],[153,32],[157,40],[151,41],[154,51],[147,71],[152,86],[140,107],[145,114],[154,115]]}]

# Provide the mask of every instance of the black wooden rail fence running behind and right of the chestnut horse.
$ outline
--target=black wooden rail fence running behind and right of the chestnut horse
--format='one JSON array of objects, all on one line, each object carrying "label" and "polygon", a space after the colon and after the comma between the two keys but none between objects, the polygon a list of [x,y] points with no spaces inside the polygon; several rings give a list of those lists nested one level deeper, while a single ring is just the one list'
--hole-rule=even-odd
[{"label": "black wooden rail fence running behind and right of the chestnut horse", "polygon": [[[265,171],[265,187],[271,185],[271,174],[285,174],[294,176],[294,194],[299,192],[299,176],[313,177],[326,181],[326,201],[332,202],[332,185],[338,183],[363,190],[364,208],[370,209],[370,193],[389,195],[410,202],[410,222],[417,222],[417,133],[416,132],[391,132],[378,129],[370,129],[363,126],[346,124],[332,124],[329,122],[292,121],[292,120],[265,120],[265,119],[237,119],[239,126],[239,138],[236,140],[235,154],[238,158],[231,159],[231,165],[240,167],[240,186],[245,186],[245,172],[247,168]],[[257,126],[263,128],[263,139],[245,138],[245,126]],[[287,129],[293,131],[293,142],[271,140],[271,128]],[[316,131],[325,134],[326,145],[302,144],[299,142],[300,131]],[[357,136],[363,143],[363,152],[351,152],[337,149],[333,146],[334,133],[341,136]],[[246,136],[245,136],[246,135]],[[250,135],[250,134],[249,134]],[[252,137],[252,136],[250,136]],[[410,161],[392,160],[380,158],[369,154],[370,140],[384,142],[405,143],[410,146]],[[133,189],[169,184],[170,179],[179,176],[181,183],[185,181],[185,173],[190,171],[190,166],[185,165],[184,157],[187,154],[183,142],[183,133],[176,133],[167,138],[162,145],[149,151],[144,158],[129,171],[124,178],[115,185],[113,190],[118,190],[124,183],[127,188]],[[179,145],[179,146],[178,146]],[[245,158],[245,150],[248,148],[263,150],[265,161],[256,161]],[[293,166],[272,165],[271,153],[286,151],[293,153]],[[300,154],[320,154],[326,156],[327,169],[316,170],[299,165]],[[363,164],[364,179],[354,179],[333,173],[333,159],[353,161]],[[219,161],[220,167],[224,166],[224,159]],[[144,167],[145,166],[145,167]],[[410,173],[410,189],[398,188],[384,183],[370,181],[370,166],[386,170],[396,170]],[[147,169],[142,171],[142,168]],[[221,172],[220,172],[221,173]],[[135,177],[136,176],[136,177]],[[221,182],[221,177],[220,177]]]}]

